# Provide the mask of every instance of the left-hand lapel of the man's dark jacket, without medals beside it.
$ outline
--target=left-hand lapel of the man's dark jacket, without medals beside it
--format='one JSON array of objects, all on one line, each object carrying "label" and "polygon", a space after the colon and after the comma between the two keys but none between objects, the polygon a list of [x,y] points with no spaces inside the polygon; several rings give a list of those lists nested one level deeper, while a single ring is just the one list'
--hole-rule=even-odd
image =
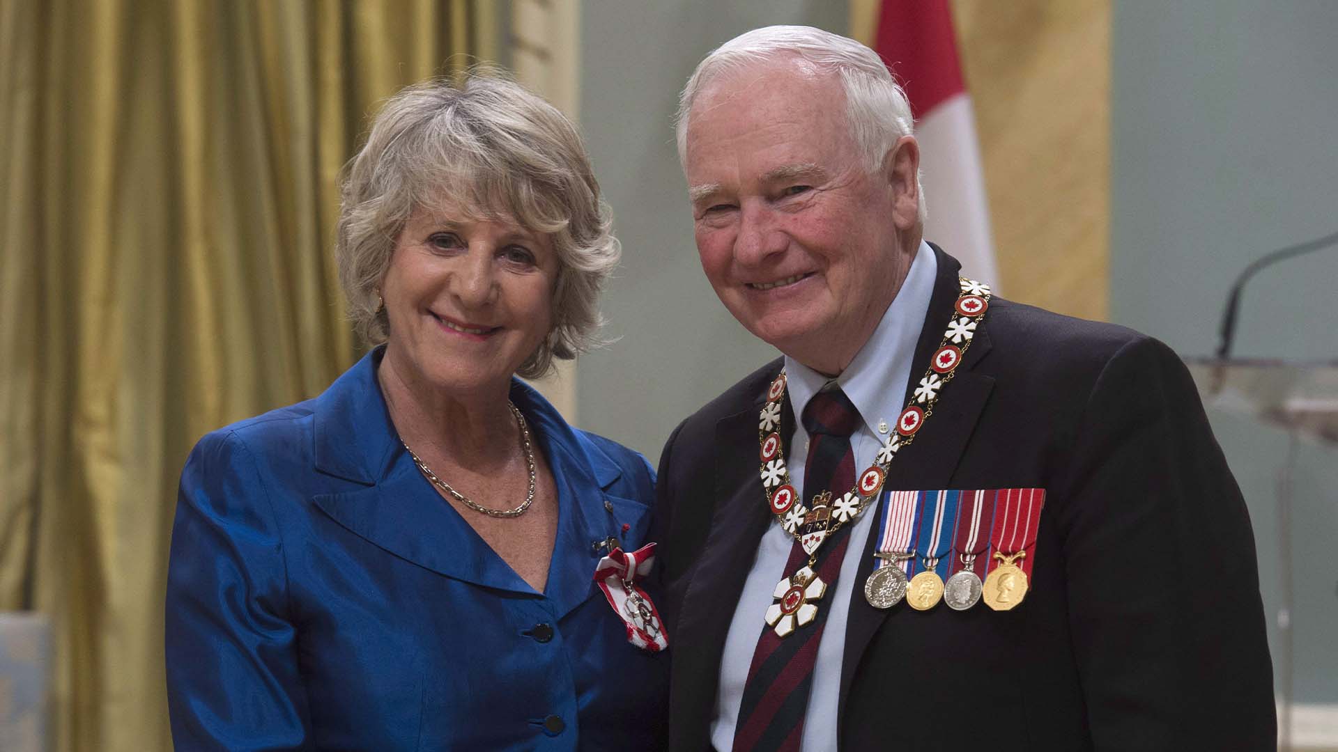
[{"label": "left-hand lapel of the man's dark jacket, without medals beside it", "polygon": [[[710,533],[682,598],[674,637],[681,648],[674,653],[676,685],[672,688],[670,715],[676,727],[700,732],[698,737],[684,741],[684,749],[701,749],[709,744],[706,735],[714,715],[720,662],[735,616],[731,605],[739,602],[757,546],[771,522],[757,478],[760,407],[761,395],[756,404],[716,424],[716,447],[720,448],[716,455],[717,503]],[[781,435],[792,430],[793,415],[787,400]]]}]

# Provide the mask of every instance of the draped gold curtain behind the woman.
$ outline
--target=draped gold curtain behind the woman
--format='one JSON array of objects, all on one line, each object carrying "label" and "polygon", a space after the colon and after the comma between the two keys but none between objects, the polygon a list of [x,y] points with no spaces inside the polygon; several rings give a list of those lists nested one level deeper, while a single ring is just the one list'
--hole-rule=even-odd
[{"label": "draped gold curtain behind the woman", "polygon": [[356,357],[337,174],[486,0],[0,0],[0,609],[54,625],[52,749],[171,747],[177,476]]}]

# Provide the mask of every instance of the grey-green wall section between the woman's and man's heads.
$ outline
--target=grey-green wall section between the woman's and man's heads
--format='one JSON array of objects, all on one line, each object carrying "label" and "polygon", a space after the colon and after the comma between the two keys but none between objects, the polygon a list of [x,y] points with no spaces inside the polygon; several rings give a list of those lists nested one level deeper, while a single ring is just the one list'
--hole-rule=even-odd
[{"label": "grey-green wall section between the woman's and man's heads", "polygon": [[692,237],[672,118],[714,47],[751,28],[846,33],[844,0],[582,0],[581,127],[613,205],[624,262],[603,297],[613,345],[581,359],[582,428],[658,464],[680,420],[779,353],[716,298]]}]

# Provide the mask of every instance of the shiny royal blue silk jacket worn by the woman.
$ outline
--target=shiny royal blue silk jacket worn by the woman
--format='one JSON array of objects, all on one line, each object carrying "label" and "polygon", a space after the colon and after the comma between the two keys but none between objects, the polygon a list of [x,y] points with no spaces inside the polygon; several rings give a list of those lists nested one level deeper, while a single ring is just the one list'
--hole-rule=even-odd
[{"label": "shiny royal blue silk jacket worn by the woman", "polygon": [[419,474],[379,359],[191,452],[167,574],[177,749],[660,748],[666,657],[593,582],[593,542],[645,542],[645,459],[512,383],[559,498],[535,593]]}]

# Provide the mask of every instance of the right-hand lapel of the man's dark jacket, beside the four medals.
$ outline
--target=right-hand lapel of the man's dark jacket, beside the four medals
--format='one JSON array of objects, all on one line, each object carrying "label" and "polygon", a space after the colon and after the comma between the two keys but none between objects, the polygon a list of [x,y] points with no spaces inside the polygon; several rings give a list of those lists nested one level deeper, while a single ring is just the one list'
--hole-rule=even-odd
[{"label": "right-hand lapel of the man's dark jacket, beside the four medals", "polygon": [[[953,316],[953,305],[961,292],[957,282],[957,273],[961,264],[947,256],[938,246],[933,246],[938,260],[938,274],[934,278],[934,293],[930,297],[929,312],[925,316],[925,328],[921,329],[919,340],[915,345],[915,359],[911,363],[910,383],[906,385],[907,404],[919,383],[925,369],[929,368],[930,357],[938,349]],[[957,470],[966,443],[975,428],[990,391],[994,388],[994,379],[973,372],[974,367],[990,351],[989,313],[985,316],[985,325],[975,331],[970,348],[962,359],[961,365],[953,373],[953,381],[943,389],[938,404],[934,405],[934,415],[925,421],[925,427],[915,435],[914,443],[898,452],[896,459],[888,466],[884,488],[890,490],[941,490],[949,488],[953,472]],[[874,507],[866,514],[882,514],[882,507]],[[855,670],[863,658],[864,649],[868,648],[874,633],[882,626],[883,620],[891,613],[875,609],[859,597],[864,579],[874,569],[874,547],[878,543],[878,523],[868,535],[864,545],[863,558],[855,574],[856,594],[850,602],[850,616],[846,622],[846,649],[842,658],[840,694],[838,698],[838,719],[846,707],[846,694],[850,690]],[[842,719],[843,720],[843,719]],[[838,723],[842,723],[840,720]],[[840,729],[838,728],[838,739]]]}]

